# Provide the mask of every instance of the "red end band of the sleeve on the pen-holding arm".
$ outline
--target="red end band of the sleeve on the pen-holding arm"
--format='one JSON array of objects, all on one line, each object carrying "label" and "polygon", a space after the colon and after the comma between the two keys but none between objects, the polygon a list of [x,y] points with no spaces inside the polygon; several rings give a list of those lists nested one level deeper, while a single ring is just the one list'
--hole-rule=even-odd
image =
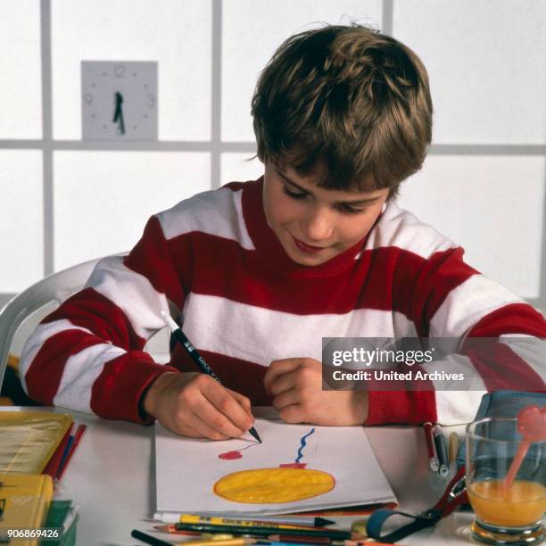
[{"label": "red end band of the sleeve on the pen-holding arm", "polygon": [[91,409],[102,418],[153,423],[152,417],[140,415],[139,402],[146,387],[168,371],[179,370],[157,364],[147,352],[131,351],[110,360],[93,385]]}]

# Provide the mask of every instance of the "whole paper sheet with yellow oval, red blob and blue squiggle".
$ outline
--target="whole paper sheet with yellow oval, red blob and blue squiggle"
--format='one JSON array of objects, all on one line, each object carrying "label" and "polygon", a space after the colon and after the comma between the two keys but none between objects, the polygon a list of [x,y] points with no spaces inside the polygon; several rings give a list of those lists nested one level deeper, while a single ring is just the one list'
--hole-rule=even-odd
[{"label": "whole paper sheet with yellow oval, red blob and blue squiggle", "polygon": [[181,513],[266,516],[393,500],[362,427],[256,417],[263,443],[250,435],[184,438],[156,425],[156,509],[171,518],[164,521]]}]

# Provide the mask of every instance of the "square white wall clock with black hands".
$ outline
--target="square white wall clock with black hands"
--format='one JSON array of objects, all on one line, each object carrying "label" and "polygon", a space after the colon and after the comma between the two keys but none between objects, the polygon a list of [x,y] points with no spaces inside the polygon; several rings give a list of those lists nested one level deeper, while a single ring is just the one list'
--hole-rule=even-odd
[{"label": "square white wall clock with black hands", "polygon": [[82,61],[84,140],[157,140],[157,62]]}]

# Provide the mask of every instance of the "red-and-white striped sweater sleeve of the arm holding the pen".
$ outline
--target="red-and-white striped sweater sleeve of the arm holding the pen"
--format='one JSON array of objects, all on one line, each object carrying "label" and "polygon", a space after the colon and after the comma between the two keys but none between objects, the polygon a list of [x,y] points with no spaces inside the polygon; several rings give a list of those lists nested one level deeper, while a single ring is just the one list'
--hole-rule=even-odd
[{"label": "red-and-white striped sweater sleeve of the arm holding the pen", "polygon": [[38,325],[21,354],[23,387],[45,405],[143,422],[138,403],[145,388],[176,371],[143,349],[164,326],[161,310],[181,308],[185,294],[152,217],[127,257],[100,261],[87,285]]}]

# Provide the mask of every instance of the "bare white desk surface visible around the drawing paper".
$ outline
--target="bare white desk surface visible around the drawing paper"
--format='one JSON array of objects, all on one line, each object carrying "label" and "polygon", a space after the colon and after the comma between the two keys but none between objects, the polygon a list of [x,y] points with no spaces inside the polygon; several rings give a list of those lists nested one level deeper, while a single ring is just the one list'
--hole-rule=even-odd
[{"label": "bare white desk surface visible around the drawing paper", "polygon": [[[88,428],[62,477],[57,497],[72,499],[79,506],[78,544],[134,545],[137,541],[130,536],[132,529],[153,532],[153,525],[157,525],[150,517],[155,508],[153,426],[70,413],[77,423],[85,423]],[[449,478],[428,470],[422,430],[414,426],[377,426],[366,432],[401,509],[418,512],[432,506]],[[471,513],[458,512],[446,517],[434,530],[413,534],[402,544],[467,545],[472,518]],[[345,526],[348,521],[344,520]],[[157,536],[167,538],[164,534]]]}]

